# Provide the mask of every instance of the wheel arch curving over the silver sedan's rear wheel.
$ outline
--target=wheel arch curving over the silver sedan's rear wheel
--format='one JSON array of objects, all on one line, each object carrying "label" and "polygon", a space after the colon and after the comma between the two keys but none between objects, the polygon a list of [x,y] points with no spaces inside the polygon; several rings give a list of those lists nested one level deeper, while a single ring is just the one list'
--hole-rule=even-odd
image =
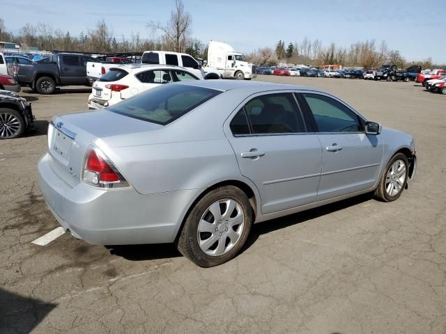
[{"label": "wheel arch curving over the silver sedan's rear wheel", "polygon": [[[254,216],[253,223],[256,221],[256,216],[258,212],[260,212],[259,205],[260,205],[260,198],[259,198],[259,192],[255,188],[254,184],[249,185],[248,182],[244,182],[241,180],[225,180],[220,182],[215,182],[214,184],[208,186],[206,189],[203,189],[201,193],[199,193],[199,196],[194,199],[194,201],[189,205],[187,208],[187,211],[185,212],[185,215],[183,216],[183,219],[181,221],[180,227],[178,228],[178,231],[176,232],[175,237],[175,243],[178,241],[178,238],[180,237],[181,230],[183,230],[183,226],[185,224],[185,221],[187,219],[187,216],[189,216],[190,212],[194,208],[195,205],[197,205],[197,202],[201,200],[206,194],[210,193],[210,191],[213,191],[214,189],[217,189],[221,186],[236,186],[238,189],[243,191],[245,195],[247,196],[249,200],[249,204],[252,208],[252,214]],[[255,189],[253,189],[255,188]]]}]

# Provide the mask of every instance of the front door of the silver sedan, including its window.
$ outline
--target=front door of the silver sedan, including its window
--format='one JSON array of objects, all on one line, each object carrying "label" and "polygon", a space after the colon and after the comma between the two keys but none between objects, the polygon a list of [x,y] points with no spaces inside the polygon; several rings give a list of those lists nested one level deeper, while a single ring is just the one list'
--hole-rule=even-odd
[{"label": "front door of the silver sedan, including its window", "polygon": [[379,135],[365,134],[364,120],[327,95],[302,93],[322,145],[323,167],[317,200],[371,189],[383,161]]}]

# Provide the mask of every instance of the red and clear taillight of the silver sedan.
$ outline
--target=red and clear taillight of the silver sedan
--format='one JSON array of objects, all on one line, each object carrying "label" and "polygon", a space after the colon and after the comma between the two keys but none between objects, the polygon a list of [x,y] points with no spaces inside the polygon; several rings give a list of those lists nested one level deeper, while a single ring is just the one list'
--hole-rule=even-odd
[{"label": "red and clear taillight of the silver sedan", "polygon": [[129,187],[130,184],[119,173],[112,161],[98,148],[91,145],[84,159],[82,180],[92,186],[106,189]]}]

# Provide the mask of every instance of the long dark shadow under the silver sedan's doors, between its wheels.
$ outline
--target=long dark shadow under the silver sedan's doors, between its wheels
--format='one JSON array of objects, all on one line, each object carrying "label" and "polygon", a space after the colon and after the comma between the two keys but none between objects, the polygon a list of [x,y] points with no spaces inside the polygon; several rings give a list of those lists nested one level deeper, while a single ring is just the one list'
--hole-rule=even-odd
[{"label": "long dark shadow under the silver sedan's doors, between its wheels", "polygon": [[291,214],[289,216],[284,216],[281,218],[272,219],[271,221],[265,221],[263,223],[258,223],[252,225],[249,236],[243,246],[240,253],[243,253],[249,247],[251,247],[257,239],[262,234],[267,234],[272,231],[281,230],[282,228],[288,228],[291,225],[296,225],[304,221],[309,221],[320,216],[325,216],[326,214],[332,214],[347,207],[352,207],[353,205],[358,205],[362,202],[367,202],[373,198],[373,193],[365,193],[364,195],[356,196],[353,198],[348,198],[346,200],[341,200],[339,202],[334,202],[328,205],[323,205],[321,207],[316,207],[314,209],[309,209],[306,211],[298,212],[297,214]]}]

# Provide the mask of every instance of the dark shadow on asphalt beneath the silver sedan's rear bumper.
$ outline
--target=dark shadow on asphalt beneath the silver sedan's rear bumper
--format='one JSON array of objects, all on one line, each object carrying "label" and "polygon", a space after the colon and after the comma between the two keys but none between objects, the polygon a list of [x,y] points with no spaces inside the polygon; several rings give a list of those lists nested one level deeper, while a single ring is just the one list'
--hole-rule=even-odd
[{"label": "dark shadow on asphalt beneath the silver sedan's rear bumper", "polygon": [[181,257],[175,244],[148,244],[105,246],[111,255],[117,255],[130,261],[146,261]]}]

